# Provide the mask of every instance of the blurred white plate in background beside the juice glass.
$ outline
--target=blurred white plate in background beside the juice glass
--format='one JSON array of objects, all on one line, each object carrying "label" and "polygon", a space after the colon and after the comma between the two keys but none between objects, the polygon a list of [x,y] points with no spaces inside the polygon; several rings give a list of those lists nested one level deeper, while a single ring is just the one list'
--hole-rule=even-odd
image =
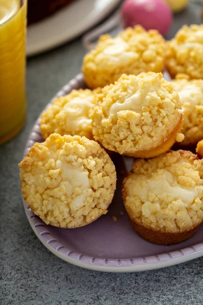
[{"label": "blurred white plate in background beside the juice glass", "polygon": [[121,0],[77,0],[27,28],[27,56],[36,55],[76,38],[99,23]]}]

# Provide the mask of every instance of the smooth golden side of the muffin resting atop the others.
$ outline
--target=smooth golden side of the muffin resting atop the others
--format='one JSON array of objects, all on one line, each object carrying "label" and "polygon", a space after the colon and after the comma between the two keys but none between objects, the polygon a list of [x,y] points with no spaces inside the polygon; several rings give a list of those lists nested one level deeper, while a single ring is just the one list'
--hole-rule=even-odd
[{"label": "smooth golden side of the muffin resting atop the others", "polygon": [[181,118],[179,120],[179,123],[177,124],[176,128],[174,128],[173,132],[171,133],[170,137],[163,142],[162,144],[148,149],[148,150],[136,150],[134,153],[128,153],[125,152],[123,155],[129,156],[129,157],[134,157],[134,158],[154,158],[158,157],[161,154],[166,153],[166,151],[170,150],[173,144],[176,142],[176,136],[177,133],[181,132],[182,129],[182,124],[183,124],[183,116],[181,115]]}]

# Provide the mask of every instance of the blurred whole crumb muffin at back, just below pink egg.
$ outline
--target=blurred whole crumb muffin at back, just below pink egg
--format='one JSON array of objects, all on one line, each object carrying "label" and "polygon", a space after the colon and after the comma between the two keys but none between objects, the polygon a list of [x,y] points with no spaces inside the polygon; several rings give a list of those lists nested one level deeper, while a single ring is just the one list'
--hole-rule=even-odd
[{"label": "blurred whole crumb muffin at back, just below pink egg", "polygon": [[123,74],[162,72],[165,42],[155,30],[145,31],[140,25],[128,27],[112,38],[103,35],[96,48],[87,53],[82,71],[89,88],[104,87]]}]

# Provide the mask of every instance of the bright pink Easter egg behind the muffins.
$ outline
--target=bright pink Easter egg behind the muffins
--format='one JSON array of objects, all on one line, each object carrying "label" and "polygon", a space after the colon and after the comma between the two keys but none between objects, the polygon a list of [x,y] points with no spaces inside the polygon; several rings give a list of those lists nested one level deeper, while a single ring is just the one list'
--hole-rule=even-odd
[{"label": "bright pink Easter egg behind the muffins", "polygon": [[162,0],[125,0],[121,16],[125,27],[140,24],[147,31],[157,29],[163,36],[173,21],[171,9]]}]

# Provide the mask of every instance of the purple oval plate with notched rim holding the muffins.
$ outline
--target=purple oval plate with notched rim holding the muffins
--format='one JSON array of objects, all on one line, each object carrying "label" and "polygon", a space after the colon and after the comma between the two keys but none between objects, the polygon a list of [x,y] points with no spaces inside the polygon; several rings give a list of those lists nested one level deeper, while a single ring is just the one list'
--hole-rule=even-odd
[{"label": "purple oval plate with notched rim holding the muffins", "polygon": [[[168,76],[165,74],[165,78]],[[85,88],[82,74],[65,85],[55,97]],[[54,98],[55,98],[54,97]],[[26,143],[24,156],[35,142],[42,142],[40,118]],[[61,259],[84,268],[108,272],[134,272],[179,264],[203,255],[203,225],[190,239],[172,246],[153,245],[130,226],[121,199],[121,183],[132,158],[116,156],[117,189],[107,215],[77,229],[46,225],[23,201],[28,221],[42,243]],[[113,217],[117,218],[114,221]]]}]

